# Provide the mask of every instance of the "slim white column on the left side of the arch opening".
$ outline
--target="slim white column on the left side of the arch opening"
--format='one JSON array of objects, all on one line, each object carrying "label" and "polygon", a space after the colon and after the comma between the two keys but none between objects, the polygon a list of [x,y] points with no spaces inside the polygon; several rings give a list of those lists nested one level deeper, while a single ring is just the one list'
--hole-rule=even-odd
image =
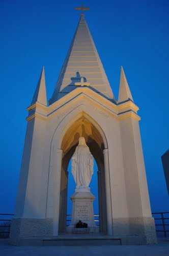
[{"label": "slim white column on the left side of the arch opening", "polygon": [[55,157],[54,172],[54,210],[53,210],[53,236],[58,236],[59,230],[59,210],[60,210],[60,187],[61,187],[61,166],[62,166],[62,150],[58,148],[57,156]]}]

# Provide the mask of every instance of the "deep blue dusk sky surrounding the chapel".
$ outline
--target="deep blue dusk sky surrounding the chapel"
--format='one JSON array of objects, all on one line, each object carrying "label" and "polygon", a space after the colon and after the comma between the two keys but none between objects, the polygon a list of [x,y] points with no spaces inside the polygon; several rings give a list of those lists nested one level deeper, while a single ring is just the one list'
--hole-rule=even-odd
[{"label": "deep blue dusk sky surrounding the chapel", "polygon": [[[123,66],[139,106],[152,211],[169,211],[161,155],[169,148],[168,0],[83,1],[103,67],[118,98]],[[41,69],[51,97],[79,20],[80,1],[0,1],[0,212],[13,213],[26,121]]]}]

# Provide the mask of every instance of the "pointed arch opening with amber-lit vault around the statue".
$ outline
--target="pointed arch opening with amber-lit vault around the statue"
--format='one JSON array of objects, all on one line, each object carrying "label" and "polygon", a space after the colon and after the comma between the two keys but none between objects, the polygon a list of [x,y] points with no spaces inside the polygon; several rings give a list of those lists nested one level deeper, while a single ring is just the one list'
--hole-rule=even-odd
[{"label": "pointed arch opening with amber-lit vault around the statue", "polygon": [[[99,229],[100,232],[107,232],[106,220],[106,198],[105,198],[105,174],[104,174],[104,141],[97,127],[84,115],[78,118],[66,131],[62,140],[62,168],[61,168],[61,190],[60,190],[60,217],[59,217],[59,233],[66,232],[67,224],[67,201],[68,199],[68,176],[70,177],[71,170],[68,172],[69,162],[78,145],[80,136],[85,137],[86,143],[90,148],[96,164],[97,177],[94,176],[93,181],[97,183],[98,190],[98,209],[99,209]],[[96,167],[97,166],[97,167]],[[70,168],[70,167],[69,167]],[[68,175],[69,174],[69,175]],[[97,179],[97,181],[96,181]],[[70,184],[69,184],[70,185]],[[91,187],[91,185],[90,185]],[[92,192],[92,187],[91,187]],[[97,196],[97,195],[94,195]]]}]

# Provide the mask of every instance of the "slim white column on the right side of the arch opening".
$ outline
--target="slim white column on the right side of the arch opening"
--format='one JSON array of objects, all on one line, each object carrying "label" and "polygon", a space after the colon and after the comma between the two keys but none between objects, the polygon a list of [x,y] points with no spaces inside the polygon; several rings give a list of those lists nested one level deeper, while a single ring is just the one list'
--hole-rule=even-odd
[{"label": "slim white column on the right side of the arch opening", "polygon": [[111,191],[110,191],[110,175],[109,175],[107,148],[103,150],[103,154],[104,154],[105,191],[106,191],[106,209],[107,209],[107,234],[112,235]]}]

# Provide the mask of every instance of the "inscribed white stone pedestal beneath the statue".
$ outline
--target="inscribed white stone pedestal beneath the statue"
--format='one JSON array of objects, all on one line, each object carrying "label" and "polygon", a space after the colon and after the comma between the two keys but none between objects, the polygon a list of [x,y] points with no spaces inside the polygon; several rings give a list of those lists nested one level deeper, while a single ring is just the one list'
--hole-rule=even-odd
[{"label": "inscribed white stone pedestal beneath the statue", "polygon": [[[95,197],[90,191],[75,191],[70,197],[73,203],[72,219],[70,226],[67,227],[68,233],[98,233],[99,226],[95,225],[93,201]],[[88,223],[88,228],[76,228],[78,221]]]}]

